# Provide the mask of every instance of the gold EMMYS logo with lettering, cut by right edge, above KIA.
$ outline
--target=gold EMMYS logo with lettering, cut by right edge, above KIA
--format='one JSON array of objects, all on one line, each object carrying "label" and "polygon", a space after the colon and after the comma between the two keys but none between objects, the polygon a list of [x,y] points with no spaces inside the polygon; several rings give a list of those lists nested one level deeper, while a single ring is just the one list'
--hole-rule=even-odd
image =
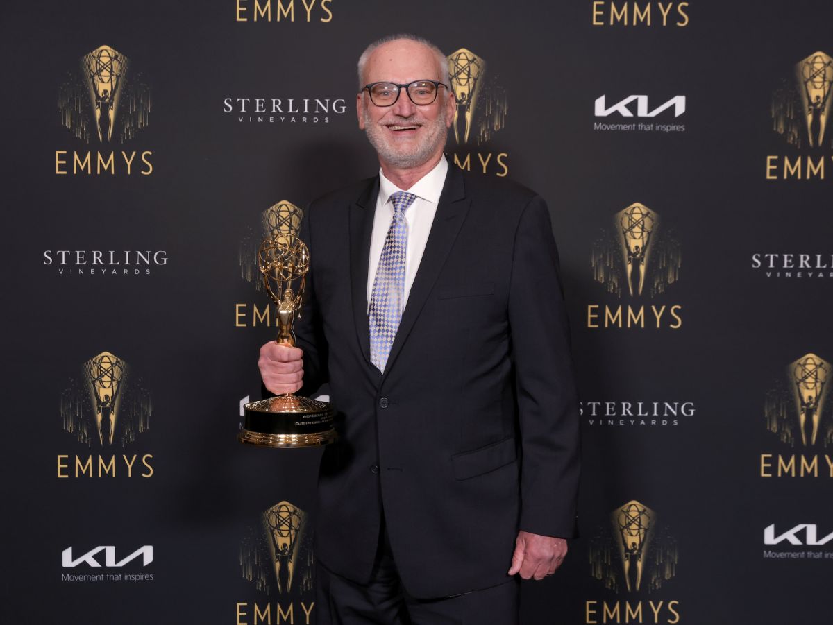
[{"label": "gold EMMYS logo with lettering, cut by right edge, above KIA", "polygon": [[833,445],[833,414],[827,403],[831,364],[806,354],[787,365],[764,402],[766,429],[801,454],[761,454],[761,477],[833,478],[833,454],[804,453]]}]

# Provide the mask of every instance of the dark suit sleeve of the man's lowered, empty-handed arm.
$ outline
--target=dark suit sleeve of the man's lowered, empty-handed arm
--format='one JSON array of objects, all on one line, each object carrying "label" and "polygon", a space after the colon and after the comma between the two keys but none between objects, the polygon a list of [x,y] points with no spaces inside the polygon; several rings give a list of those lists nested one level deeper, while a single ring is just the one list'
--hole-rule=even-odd
[{"label": "dark suit sleeve of the man's lowered, empty-handed arm", "polygon": [[572,538],[580,440],[558,251],[541,197],[526,205],[512,255],[509,324],[521,430],[521,525]]}]

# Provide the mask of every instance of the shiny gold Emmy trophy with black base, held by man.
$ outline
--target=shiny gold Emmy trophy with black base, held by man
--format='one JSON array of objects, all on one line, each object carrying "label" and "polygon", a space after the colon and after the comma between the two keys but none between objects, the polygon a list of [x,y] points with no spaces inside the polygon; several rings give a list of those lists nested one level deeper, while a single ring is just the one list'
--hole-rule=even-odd
[{"label": "shiny gold Emmy trophy with black base, held by man", "polygon": [[[300,315],[309,270],[309,250],[297,237],[301,209],[278,206],[278,225],[257,253],[263,284],[277,305],[279,345],[295,346],[292,324]],[[293,288],[294,287],[294,288]],[[258,447],[314,447],[336,440],[335,410],[326,402],[282,394],[243,406],[245,420],[237,439]]]}]

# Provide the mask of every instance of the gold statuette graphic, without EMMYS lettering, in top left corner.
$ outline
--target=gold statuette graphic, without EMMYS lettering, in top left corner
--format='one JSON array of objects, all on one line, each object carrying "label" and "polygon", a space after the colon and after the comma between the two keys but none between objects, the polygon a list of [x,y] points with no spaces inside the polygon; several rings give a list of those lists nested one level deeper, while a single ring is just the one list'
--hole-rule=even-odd
[{"label": "gold statuette graphic, without EMMYS lettering, in top left corner", "polygon": [[150,88],[130,67],[130,59],[109,46],[81,57],[58,96],[63,126],[87,143],[123,143],[147,126]]}]

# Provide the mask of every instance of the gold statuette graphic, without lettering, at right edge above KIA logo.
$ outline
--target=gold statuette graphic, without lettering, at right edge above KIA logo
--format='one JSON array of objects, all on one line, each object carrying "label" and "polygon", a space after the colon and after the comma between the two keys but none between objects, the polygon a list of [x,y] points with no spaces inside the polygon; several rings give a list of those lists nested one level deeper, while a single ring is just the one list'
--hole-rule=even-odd
[{"label": "gold statuette graphic, without lettering, at right edge above KIA logo", "polygon": [[766,396],[766,429],[791,447],[833,444],[833,419],[825,410],[830,379],[831,364],[815,354],[788,365]]}]

